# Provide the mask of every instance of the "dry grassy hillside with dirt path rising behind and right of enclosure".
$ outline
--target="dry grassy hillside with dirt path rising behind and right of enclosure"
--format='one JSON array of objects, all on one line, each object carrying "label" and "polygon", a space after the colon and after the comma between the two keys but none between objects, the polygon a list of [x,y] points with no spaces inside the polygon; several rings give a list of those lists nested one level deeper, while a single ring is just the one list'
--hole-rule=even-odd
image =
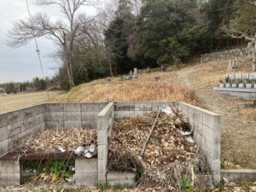
[{"label": "dry grassy hillside with dirt path rising behind and right of enclosure", "polygon": [[[236,61],[235,72],[249,72],[252,57],[241,57]],[[227,70],[228,61],[212,61],[207,64],[191,63],[166,73],[139,75],[137,80],[111,82],[104,79],[90,84],[81,84],[67,94],[56,97],[55,102],[173,102],[182,101],[199,105],[223,116],[222,119],[222,166],[230,168],[256,168],[256,153],[253,141],[256,139],[256,120],[245,113],[255,110],[238,108],[245,102],[240,99],[214,93],[212,87]],[[159,77],[159,81],[154,78]],[[230,163],[231,162],[231,163]],[[236,166],[240,165],[240,166]],[[234,168],[234,166],[233,166]]]}]

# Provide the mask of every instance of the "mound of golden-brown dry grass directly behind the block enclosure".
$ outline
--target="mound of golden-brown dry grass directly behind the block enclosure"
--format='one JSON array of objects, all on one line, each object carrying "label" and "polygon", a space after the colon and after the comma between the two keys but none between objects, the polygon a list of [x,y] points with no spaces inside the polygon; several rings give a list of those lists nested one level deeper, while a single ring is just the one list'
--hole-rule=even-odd
[{"label": "mound of golden-brown dry grass directly behind the block enclosure", "polygon": [[[155,73],[160,74],[160,73]],[[140,79],[111,83],[97,80],[82,84],[58,96],[55,102],[189,102],[196,104],[195,91],[185,86],[167,81],[167,74],[162,73],[160,81],[154,81],[154,75],[143,75]]]}]

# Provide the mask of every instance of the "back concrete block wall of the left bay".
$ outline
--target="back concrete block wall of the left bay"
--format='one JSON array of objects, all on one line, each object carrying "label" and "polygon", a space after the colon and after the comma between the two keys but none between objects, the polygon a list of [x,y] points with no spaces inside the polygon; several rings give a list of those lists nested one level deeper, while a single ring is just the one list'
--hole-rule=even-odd
[{"label": "back concrete block wall of the left bay", "polygon": [[46,127],[49,129],[96,128],[96,116],[107,104],[104,102],[46,104]]}]

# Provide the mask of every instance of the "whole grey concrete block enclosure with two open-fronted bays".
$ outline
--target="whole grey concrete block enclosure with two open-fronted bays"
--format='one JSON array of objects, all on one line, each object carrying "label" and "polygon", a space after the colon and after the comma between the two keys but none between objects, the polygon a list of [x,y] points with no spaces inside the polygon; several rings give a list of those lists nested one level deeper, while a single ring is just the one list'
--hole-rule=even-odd
[{"label": "whole grey concrete block enclosure with two open-fronted bays", "polygon": [[[195,142],[207,155],[214,183],[220,181],[220,116],[183,102],[111,102],[111,103],[49,103],[15,112],[0,114],[0,185],[20,184],[21,165],[17,160],[1,160],[5,154],[19,149],[30,135],[46,129],[74,127],[97,130],[98,155],[93,159],[75,160],[77,184],[122,183],[118,173],[108,173],[108,137],[114,119],[129,119],[151,113],[169,104],[188,115]],[[9,168],[8,168],[9,167]],[[13,167],[13,168],[12,168]],[[128,183],[134,175],[126,175]],[[8,181],[9,182],[6,182]],[[121,181],[122,180],[122,181]]]}]

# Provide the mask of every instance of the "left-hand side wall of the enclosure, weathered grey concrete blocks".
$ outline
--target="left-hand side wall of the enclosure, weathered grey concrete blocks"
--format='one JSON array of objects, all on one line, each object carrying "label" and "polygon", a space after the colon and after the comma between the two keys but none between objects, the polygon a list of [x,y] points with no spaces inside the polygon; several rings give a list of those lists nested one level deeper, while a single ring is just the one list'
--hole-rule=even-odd
[{"label": "left-hand side wall of the enclosure, weathered grey concrete blocks", "polygon": [[38,105],[0,114],[0,156],[15,148],[29,135],[45,129],[45,106]]}]

